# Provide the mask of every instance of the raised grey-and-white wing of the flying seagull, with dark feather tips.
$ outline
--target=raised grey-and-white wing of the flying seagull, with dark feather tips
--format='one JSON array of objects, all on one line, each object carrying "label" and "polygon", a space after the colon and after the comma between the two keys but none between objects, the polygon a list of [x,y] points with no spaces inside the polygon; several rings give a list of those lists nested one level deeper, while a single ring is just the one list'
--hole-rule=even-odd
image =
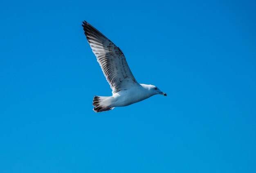
[{"label": "raised grey-and-white wing of the flying seagull, with dark feather tips", "polygon": [[138,85],[126,62],[123,52],[97,29],[84,21],[83,30],[110,84],[112,93]]}]

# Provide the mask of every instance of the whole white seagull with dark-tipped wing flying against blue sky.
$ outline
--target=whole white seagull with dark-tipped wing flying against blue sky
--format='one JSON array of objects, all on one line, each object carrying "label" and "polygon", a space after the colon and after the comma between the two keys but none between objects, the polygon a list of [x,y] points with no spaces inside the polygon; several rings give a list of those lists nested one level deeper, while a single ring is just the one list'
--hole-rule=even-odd
[{"label": "whole white seagull with dark-tipped wing flying against blue sky", "polygon": [[92,52],[112,89],[112,96],[94,96],[92,105],[95,112],[128,106],[156,94],[166,96],[166,93],[154,85],[139,84],[121,49],[88,22],[84,21],[82,26]]}]

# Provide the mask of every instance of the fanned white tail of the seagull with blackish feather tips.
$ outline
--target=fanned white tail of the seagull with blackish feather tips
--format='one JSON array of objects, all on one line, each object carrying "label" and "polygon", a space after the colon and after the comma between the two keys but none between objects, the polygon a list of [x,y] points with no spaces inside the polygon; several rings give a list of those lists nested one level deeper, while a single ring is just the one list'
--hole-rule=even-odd
[{"label": "fanned white tail of the seagull with blackish feather tips", "polygon": [[[104,97],[104,96],[94,96],[93,98],[93,103],[92,105],[95,106],[93,108],[93,110],[95,112],[103,112],[103,111],[110,111],[112,109],[114,109],[115,107],[110,107],[110,105],[108,105],[106,103],[106,99],[108,99],[110,97]],[[105,102],[104,102],[105,101]]]}]

